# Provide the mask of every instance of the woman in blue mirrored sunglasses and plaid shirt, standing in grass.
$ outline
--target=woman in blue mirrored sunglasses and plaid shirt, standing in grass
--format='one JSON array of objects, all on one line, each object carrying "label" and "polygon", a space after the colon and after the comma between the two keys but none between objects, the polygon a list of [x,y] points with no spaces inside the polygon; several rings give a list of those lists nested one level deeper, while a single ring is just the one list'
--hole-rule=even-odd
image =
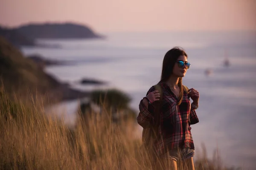
[{"label": "woman in blue mirrored sunglasses and plaid shirt, standing in grass", "polygon": [[[187,54],[182,48],[172,48],[163,59],[162,75],[159,85],[162,88],[163,99],[160,105],[160,123],[158,127],[159,138],[154,141],[158,162],[157,169],[163,167],[177,170],[177,162],[182,162],[183,168],[194,170],[192,157],[194,156],[194,143],[190,125],[199,122],[195,109],[198,108],[199,93],[194,88],[185,90],[182,77],[185,76],[190,63]],[[189,97],[193,100],[190,103]],[[147,95],[141,100],[140,113],[137,122],[148,128],[154,123],[154,102],[159,100],[160,93],[152,86]],[[153,146],[152,146],[153,147]]]}]

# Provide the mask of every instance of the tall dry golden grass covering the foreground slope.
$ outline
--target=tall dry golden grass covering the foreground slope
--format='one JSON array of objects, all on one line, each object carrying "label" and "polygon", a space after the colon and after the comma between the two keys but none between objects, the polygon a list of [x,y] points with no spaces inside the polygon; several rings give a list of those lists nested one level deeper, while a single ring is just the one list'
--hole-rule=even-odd
[{"label": "tall dry golden grass covering the foreground slope", "polygon": [[[109,114],[91,114],[70,130],[64,121],[41,114],[38,101],[30,106],[11,102],[4,91],[0,97],[0,169],[151,169],[141,140],[129,133],[136,128],[134,120],[114,124]],[[205,158],[197,162],[197,170],[218,170]]]}]

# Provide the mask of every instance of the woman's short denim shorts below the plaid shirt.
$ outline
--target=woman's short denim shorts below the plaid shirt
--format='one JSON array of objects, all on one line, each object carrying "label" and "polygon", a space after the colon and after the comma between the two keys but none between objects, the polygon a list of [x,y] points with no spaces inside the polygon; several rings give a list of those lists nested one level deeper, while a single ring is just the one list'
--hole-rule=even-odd
[{"label": "woman's short denim shorts below the plaid shirt", "polygon": [[170,160],[180,161],[192,158],[195,155],[194,149],[184,148],[184,149],[175,149],[169,150],[167,153],[163,155],[165,158],[169,158]]}]

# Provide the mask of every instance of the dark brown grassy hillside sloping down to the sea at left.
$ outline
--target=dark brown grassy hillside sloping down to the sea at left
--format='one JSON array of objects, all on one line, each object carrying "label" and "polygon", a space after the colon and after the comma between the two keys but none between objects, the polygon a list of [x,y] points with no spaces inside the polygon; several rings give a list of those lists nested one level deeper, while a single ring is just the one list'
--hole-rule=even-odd
[{"label": "dark brown grassy hillside sloping down to the sea at left", "polygon": [[0,37],[0,79],[6,93],[15,92],[19,96],[26,96],[28,91],[33,96],[47,95],[51,99],[74,99],[87,95],[46,74],[3,37]]}]

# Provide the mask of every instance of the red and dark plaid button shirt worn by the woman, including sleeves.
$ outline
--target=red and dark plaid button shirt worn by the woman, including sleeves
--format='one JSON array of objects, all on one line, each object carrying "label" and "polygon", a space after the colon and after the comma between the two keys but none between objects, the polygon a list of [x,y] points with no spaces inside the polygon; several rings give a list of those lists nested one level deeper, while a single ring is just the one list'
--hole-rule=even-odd
[{"label": "red and dark plaid button shirt worn by the woman, including sleeves", "polygon": [[[167,150],[186,147],[195,149],[190,125],[198,123],[199,120],[195,109],[191,106],[188,95],[185,91],[183,92],[182,102],[178,106],[178,99],[169,86],[166,83],[160,85],[163,89],[163,100],[160,106],[160,127],[158,128],[161,139],[154,143],[157,153],[161,155]],[[152,86],[148,93],[154,90],[154,86]],[[154,106],[148,105],[148,108],[146,108],[141,100],[139,108],[140,113],[137,122],[143,128],[147,128],[154,122],[152,115]]]}]

